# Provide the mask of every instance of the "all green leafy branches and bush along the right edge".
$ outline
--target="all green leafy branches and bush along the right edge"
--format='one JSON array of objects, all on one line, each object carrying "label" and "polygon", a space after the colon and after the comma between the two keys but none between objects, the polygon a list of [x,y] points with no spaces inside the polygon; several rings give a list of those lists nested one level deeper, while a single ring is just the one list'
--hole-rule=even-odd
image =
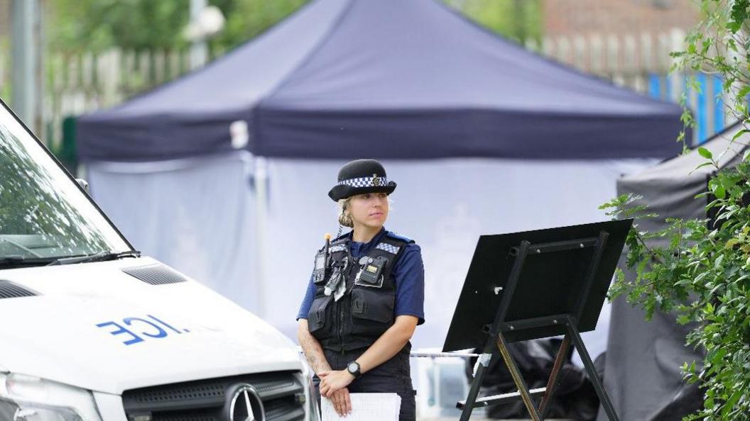
[{"label": "all green leafy branches and bush along the right edge", "polygon": [[[673,70],[721,76],[725,106],[744,124],[730,148],[742,150],[743,135],[750,131],[750,0],[702,0],[700,5],[703,19],[688,34],[685,50],[673,53]],[[688,86],[699,89],[693,81]],[[683,121],[692,124],[688,110]],[[679,139],[685,142],[684,132]],[[706,160],[700,166],[710,167],[714,176],[696,200],[712,195],[706,214],[718,215],[716,222],[667,218],[655,232],[635,225],[627,240],[627,265],[635,278],[618,271],[610,298],[624,294],[646,318],[655,311],[674,312],[680,324],[694,323],[687,342],[703,348],[706,357],[685,362],[683,369],[685,379],[703,390],[703,410],[688,420],[750,420],[750,154],[727,168],[708,149],[697,152]],[[601,208],[616,217],[658,217],[634,205],[635,199],[620,196]],[[670,241],[654,246],[657,238]]]}]

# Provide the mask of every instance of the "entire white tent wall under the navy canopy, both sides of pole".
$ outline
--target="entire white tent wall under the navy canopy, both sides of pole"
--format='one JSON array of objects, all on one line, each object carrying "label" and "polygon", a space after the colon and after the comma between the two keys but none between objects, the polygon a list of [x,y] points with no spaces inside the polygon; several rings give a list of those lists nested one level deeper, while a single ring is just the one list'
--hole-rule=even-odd
[{"label": "entire white tent wall under the navy canopy, both sides of pole", "polygon": [[[177,163],[89,166],[92,195],[145,254],[204,282],[296,336],[296,314],[316,250],[336,234],[337,205],[327,196],[344,160],[267,159],[268,220],[257,238],[248,155]],[[443,345],[480,234],[501,234],[607,219],[621,175],[655,160],[384,160],[391,196],[386,228],[412,237],[425,261],[425,318],[413,344]],[[166,166],[166,169],[164,167]],[[260,240],[260,242],[259,242]],[[264,281],[254,258],[262,255]],[[583,339],[604,351],[605,304]]]}]

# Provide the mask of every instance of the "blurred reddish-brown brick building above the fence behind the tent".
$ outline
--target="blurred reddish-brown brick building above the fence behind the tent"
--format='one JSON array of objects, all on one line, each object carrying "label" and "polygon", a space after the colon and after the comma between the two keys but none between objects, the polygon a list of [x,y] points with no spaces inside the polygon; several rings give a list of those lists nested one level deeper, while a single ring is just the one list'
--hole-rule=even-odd
[{"label": "blurred reddish-brown brick building above the fence behind the tent", "polygon": [[542,10],[551,37],[686,30],[699,13],[691,0],[542,0]]}]

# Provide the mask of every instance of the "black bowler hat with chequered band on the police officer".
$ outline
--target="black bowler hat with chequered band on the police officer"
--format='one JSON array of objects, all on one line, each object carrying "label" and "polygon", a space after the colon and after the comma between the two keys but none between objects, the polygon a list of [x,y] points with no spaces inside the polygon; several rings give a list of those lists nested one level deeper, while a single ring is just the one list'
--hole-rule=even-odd
[{"label": "black bowler hat with chequered band on the police officer", "polygon": [[338,202],[362,193],[391,194],[393,190],[396,183],[388,181],[382,164],[376,160],[354,160],[338,170],[338,184],[329,191],[329,197]]}]

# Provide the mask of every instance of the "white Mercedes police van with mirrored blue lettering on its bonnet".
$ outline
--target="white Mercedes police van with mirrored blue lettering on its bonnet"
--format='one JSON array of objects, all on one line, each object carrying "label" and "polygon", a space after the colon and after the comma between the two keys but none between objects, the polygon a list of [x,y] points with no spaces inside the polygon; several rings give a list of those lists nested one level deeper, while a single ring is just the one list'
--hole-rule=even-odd
[{"label": "white Mercedes police van with mirrored blue lettering on its bonnet", "polygon": [[317,419],[290,339],[141,257],[0,103],[0,421]]}]

